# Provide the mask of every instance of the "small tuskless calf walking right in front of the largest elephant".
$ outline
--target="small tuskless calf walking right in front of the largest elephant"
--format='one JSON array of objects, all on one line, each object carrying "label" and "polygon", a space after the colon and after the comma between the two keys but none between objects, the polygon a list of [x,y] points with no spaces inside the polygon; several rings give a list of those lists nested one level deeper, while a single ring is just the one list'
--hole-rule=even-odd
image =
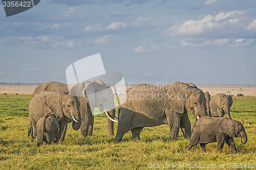
[{"label": "small tuskless calf walking right in front of the largest elephant", "polygon": [[221,152],[226,141],[232,153],[237,153],[233,137],[241,137],[241,144],[247,142],[244,126],[240,122],[226,117],[203,116],[197,120],[193,127],[192,136],[186,150],[190,150],[199,143],[202,151],[206,152],[205,144],[218,141],[217,151]]}]

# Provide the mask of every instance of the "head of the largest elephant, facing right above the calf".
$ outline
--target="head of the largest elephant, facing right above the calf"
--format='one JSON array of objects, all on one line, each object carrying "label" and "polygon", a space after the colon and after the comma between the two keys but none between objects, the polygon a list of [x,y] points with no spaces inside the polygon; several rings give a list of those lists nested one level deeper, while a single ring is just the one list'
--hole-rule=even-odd
[{"label": "head of the largest elephant, facing right above the calf", "polygon": [[170,103],[178,113],[187,110],[197,119],[207,115],[206,99],[202,90],[182,82],[175,82],[165,91]]}]

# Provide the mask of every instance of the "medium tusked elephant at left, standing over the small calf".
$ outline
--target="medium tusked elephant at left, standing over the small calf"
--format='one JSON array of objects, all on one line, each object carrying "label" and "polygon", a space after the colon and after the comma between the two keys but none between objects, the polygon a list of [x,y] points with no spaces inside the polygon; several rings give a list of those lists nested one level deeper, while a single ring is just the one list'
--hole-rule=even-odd
[{"label": "medium tusked elephant at left, standing over the small calf", "polygon": [[[66,135],[65,127],[72,122],[72,128],[78,130],[81,125],[81,115],[79,112],[79,101],[71,94],[64,91],[42,91],[33,96],[29,103],[29,116],[31,126],[28,135],[33,135],[32,128],[35,132],[36,124],[41,117],[48,113],[55,114],[59,122],[59,133],[57,142],[60,138],[63,140]],[[32,127],[33,125],[33,127]]]}]

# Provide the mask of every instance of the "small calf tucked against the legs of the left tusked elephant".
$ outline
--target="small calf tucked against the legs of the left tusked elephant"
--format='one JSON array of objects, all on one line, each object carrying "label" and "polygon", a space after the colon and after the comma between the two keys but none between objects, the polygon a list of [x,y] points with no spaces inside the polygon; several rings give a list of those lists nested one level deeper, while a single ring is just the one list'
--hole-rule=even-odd
[{"label": "small calf tucked against the legs of the left tusked elephant", "polygon": [[41,117],[36,124],[37,147],[40,147],[42,141],[50,144],[55,142],[55,137],[58,135],[59,123],[57,117],[48,113]]}]

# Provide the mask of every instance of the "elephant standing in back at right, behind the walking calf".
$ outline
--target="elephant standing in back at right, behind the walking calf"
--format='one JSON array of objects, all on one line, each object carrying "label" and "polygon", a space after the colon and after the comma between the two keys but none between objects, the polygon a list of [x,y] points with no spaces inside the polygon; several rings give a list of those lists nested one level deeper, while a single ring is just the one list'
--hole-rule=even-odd
[{"label": "elephant standing in back at right, behind the walking calf", "polygon": [[216,94],[210,100],[211,117],[226,117],[231,119],[230,107],[233,103],[231,95]]}]

